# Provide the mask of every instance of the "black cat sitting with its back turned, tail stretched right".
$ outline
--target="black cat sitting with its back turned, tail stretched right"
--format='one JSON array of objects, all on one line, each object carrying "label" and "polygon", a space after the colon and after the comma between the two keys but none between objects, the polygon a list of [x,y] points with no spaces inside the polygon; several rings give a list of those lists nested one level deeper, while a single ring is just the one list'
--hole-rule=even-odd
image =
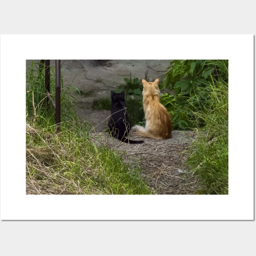
[{"label": "black cat sitting with its back turned, tail stretched right", "polygon": [[111,135],[125,143],[143,143],[144,141],[133,141],[126,138],[129,134],[131,124],[126,111],[124,91],[121,93],[111,91],[111,101],[111,117],[108,121],[108,129]]}]

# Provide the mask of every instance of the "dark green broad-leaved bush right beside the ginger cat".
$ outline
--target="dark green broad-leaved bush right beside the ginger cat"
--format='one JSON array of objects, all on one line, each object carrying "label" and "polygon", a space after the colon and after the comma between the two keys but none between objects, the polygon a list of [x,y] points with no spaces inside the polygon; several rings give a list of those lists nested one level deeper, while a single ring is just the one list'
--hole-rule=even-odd
[{"label": "dark green broad-leaved bush right beside the ginger cat", "polygon": [[228,82],[228,60],[174,60],[168,69],[161,88],[174,95],[162,95],[161,103],[171,113],[174,130],[203,127],[194,112],[210,107],[209,91],[217,81]]}]

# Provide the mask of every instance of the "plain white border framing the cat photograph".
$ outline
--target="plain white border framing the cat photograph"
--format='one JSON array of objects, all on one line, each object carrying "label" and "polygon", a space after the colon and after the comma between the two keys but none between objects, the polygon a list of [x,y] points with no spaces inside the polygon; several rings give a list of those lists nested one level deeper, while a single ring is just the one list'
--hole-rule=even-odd
[{"label": "plain white border framing the cat photograph", "polygon": [[[0,39],[1,219],[254,218],[253,35],[1,35]],[[229,59],[229,195],[25,195],[26,59]]]}]

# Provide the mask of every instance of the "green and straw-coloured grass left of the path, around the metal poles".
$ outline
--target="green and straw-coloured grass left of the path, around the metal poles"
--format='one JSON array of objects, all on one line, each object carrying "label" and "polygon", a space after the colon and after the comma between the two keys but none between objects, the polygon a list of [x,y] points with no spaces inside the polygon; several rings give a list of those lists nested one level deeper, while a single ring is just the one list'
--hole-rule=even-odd
[{"label": "green and straw-coloured grass left of the path, around the metal poles", "polygon": [[[124,164],[120,153],[91,142],[87,126],[75,115],[71,85],[61,88],[62,122],[56,133],[43,73],[34,62],[26,73],[26,193],[150,194],[138,168]],[[54,69],[50,73],[54,91]]]}]

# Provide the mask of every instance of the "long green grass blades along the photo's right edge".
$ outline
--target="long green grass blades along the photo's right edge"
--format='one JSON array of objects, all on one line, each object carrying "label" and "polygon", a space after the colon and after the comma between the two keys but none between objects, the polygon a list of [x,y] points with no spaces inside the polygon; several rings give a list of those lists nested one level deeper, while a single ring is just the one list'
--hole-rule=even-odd
[{"label": "long green grass blades along the photo's right edge", "polygon": [[209,88],[210,108],[194,112],[206,126],[189,150],[187,165],[206,189],[199,194],[228,194],[228,83]]}]

